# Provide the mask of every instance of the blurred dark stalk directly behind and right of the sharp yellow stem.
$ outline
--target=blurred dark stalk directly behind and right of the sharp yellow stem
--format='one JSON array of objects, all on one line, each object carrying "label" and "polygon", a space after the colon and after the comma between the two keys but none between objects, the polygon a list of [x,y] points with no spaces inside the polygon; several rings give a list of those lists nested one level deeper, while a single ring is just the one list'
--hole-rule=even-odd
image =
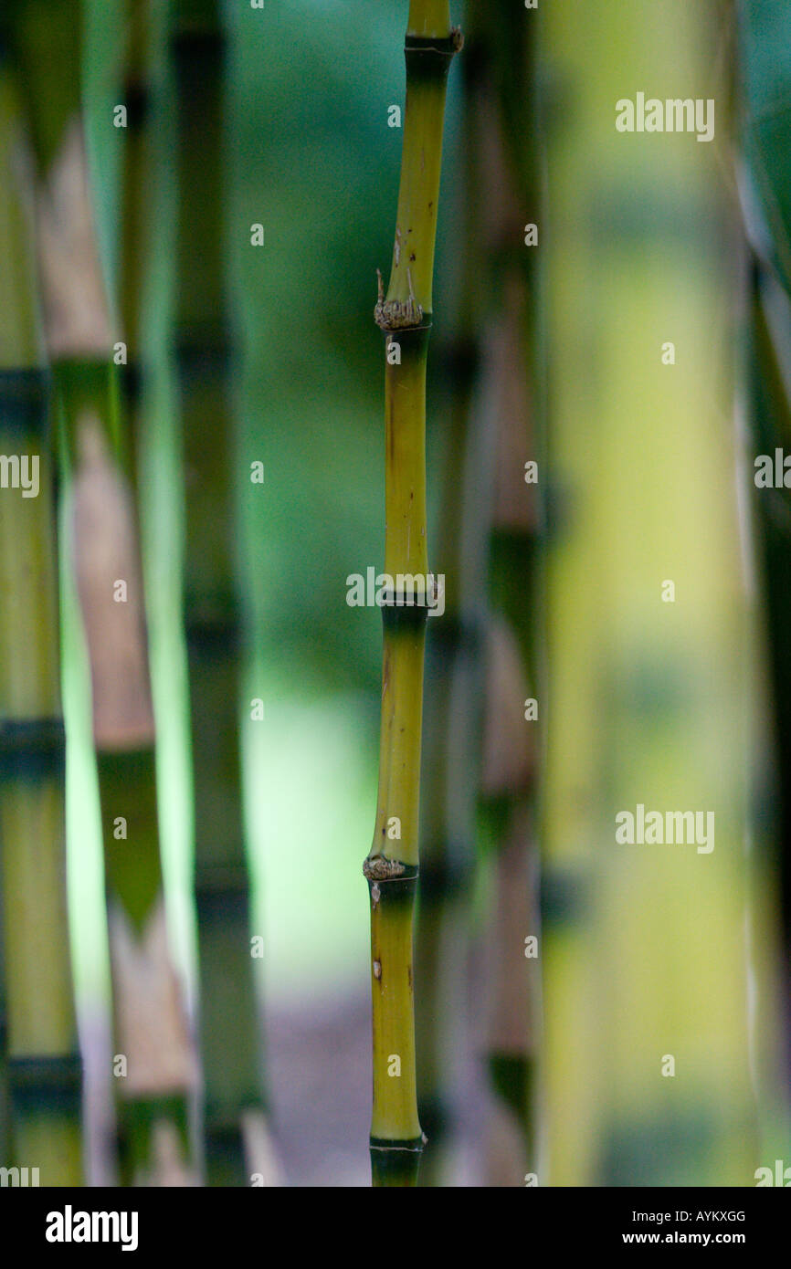
[{"label": "blurred dark stalk directly behind and right of the sharp yellow stem", "polygon": [[[481,396],[480,155],[474,85],[480,15],[467,5],[462,60],[462,180],[457,216],[458,299],[447,350],[451,401],[443,437],[435,560],[444,615],[425,645],[420,890],[415,938],[418,1105],[430,1141],[420,1184],[452,1184],[461,1161],[455,1055],[470,1032],[470,877],[475,867],[482,746],[484,633],[491,515],[493,426]],[[474,1029],[474,1028],[472,1028]]]}]

